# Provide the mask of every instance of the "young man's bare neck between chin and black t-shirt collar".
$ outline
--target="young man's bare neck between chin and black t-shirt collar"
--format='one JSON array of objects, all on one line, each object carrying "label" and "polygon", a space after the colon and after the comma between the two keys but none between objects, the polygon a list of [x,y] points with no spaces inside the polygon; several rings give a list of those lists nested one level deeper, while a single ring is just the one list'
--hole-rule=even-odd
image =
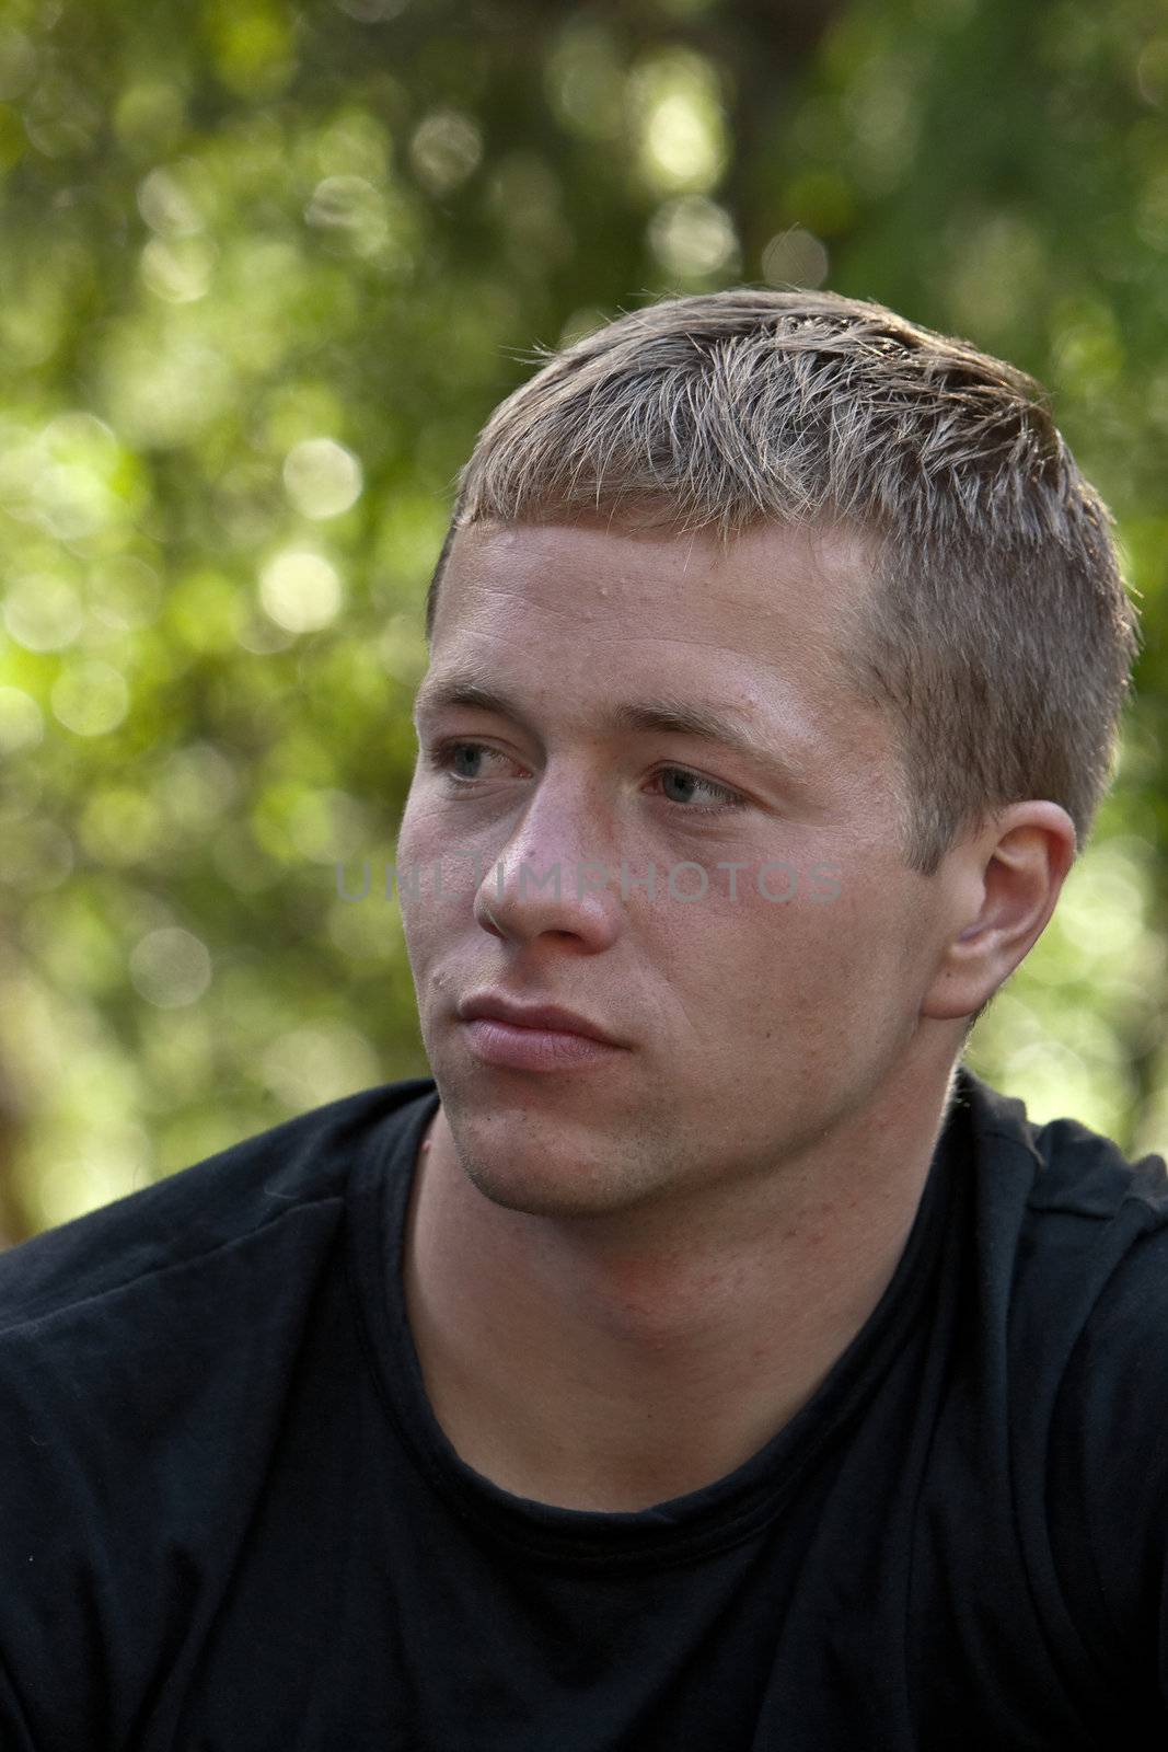
[{"label": "young man's bare neck between chin and black t-shirt collar", "polygon": [[[455,1452],[517,1496],[637,1510],[741,1466],[811,1398],[888,1288],[949,1081],[884,1088],[799,1165],[672,1226],[485,1198],[440,1109],[419,1153],[405,1295]],[[650,1239],[651,1235],[651,1239]]]}]

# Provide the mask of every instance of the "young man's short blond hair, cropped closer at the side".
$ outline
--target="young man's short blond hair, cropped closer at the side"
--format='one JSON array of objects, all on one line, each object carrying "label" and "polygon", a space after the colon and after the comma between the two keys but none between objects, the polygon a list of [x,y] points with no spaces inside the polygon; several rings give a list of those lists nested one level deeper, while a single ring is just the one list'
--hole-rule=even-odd
[{"label": "young man's short blond hair, cropped closer at the side", "polygon": [[890,713],[905,862],[1030,797],[1086,843],[1138,650],[1112,517],[1042,387],[968,342],[835,293],[735,289],[630,310],[494,410],[457,529],[608,513],[630,527],[849,526],[872,590],[846,641]]}]

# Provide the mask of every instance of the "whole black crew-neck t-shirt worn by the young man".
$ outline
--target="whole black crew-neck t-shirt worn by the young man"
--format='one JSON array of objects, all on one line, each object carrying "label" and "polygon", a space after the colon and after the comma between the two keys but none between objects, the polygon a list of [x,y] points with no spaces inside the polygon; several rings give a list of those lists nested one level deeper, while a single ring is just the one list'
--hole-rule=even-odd
[{"label": "whole black crew-neck t-shirt worn by the young man", "polygon": [[632,1514],[513,1496],[401,1284],[431,1081],[0,1258],[4,1752],[909,1752],[1168,1727],[1168,1179],[967,1069],[807,1405]]}]

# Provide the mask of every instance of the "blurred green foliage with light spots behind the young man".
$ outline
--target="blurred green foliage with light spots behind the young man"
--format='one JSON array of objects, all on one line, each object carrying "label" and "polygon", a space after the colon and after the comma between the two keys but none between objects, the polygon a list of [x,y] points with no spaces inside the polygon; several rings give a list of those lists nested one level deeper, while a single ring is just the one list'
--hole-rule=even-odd
[{"label": "blurred green foliage with light spots behind the young man", "polygon": [[1117,788],[968,1058],[1168,1149],[1163,0],[5,0],[0,189],[2,1242],[427,1072],[452,477],[536,342],[741,282],[1037,373],[1114,508]]}]

